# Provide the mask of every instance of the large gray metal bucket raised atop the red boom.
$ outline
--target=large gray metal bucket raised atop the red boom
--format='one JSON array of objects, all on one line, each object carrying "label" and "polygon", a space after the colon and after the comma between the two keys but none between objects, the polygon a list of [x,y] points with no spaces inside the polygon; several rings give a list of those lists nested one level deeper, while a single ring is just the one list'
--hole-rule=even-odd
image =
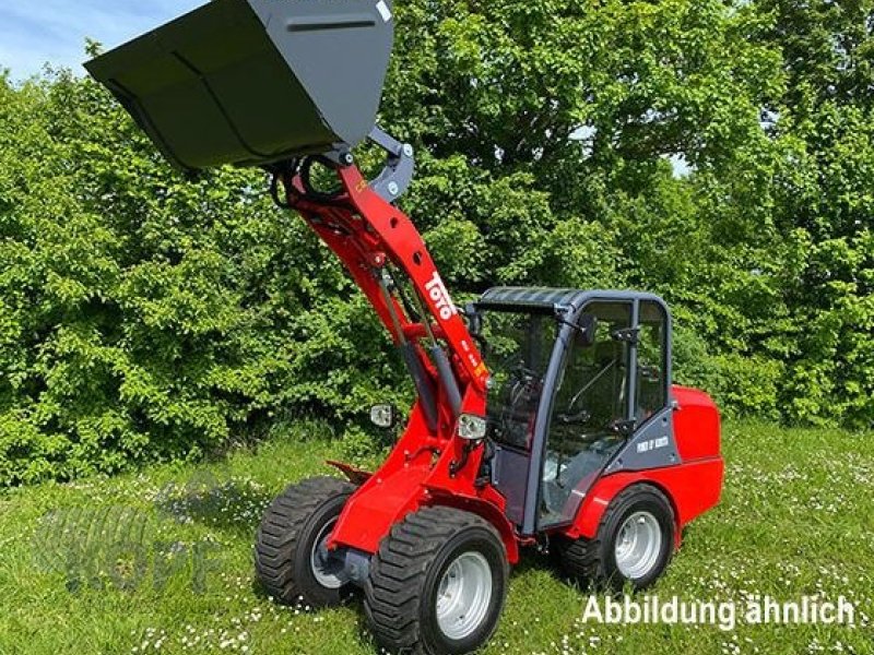
[{"label": "large gray metal bucket raised atop the red boom", "polygon": [[354,146],[376,121],[391,0],[214,0],[85,64],[176,166]]}]

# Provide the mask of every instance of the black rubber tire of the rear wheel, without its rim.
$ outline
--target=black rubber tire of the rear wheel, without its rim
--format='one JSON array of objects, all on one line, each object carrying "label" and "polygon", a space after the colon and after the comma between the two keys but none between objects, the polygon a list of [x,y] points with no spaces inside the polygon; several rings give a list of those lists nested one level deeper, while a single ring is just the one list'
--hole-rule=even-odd
[{"label": "black rubber tire of the rear wheel, without its rim", "polygon": [[[661,544],[653,563],[637,576],[625,575],[616,561],[616,541],[625,522],[634,514],[652,516],[661,531]],[[621,592],[626,584],[645,590],[664,573],[674,552],[674,510],[659,489],[651,485],[634,485],[611,501],[593,539],[557,541],[563,571],[583,585]]]}]

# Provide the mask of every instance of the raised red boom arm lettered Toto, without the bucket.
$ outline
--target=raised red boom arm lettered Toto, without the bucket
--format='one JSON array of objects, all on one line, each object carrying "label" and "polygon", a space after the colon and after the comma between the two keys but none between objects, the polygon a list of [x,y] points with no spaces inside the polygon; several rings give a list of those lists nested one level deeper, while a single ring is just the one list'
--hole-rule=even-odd
[{"label": "raised red boom arm lettered Toto, without the bucket", "polygon": [[[454,426],[461,412],[482,415],[488,371],[412,221],[382,198],[351,157],[323,163],[341,190],[309,189],[309,159],[277,174],[296,210],[340,258],[401,348],[432,432]],[[409,281],[404,288],[398,273]],[[440,429],[438,429],[438,425]]]}]

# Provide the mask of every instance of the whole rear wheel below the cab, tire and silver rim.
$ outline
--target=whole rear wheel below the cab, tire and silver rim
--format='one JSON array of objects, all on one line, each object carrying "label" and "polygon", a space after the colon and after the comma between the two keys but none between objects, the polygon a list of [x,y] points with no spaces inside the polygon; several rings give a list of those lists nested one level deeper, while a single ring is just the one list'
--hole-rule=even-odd
[{"label": "whole rear wheel below the cab, tire and silver rim", "polygon": [[635,485],[613,499],[593,539],[559,539],[559,561],[582,583],[615,591],[630,583],[642,590],[668,568],[674,531],[674,511],[664,493],[651,485]]}]

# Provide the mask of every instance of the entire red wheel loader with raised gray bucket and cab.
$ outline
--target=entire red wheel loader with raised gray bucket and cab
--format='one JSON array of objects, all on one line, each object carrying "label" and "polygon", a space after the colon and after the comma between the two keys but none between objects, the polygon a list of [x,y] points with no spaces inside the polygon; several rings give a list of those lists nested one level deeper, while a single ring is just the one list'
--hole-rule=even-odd
[{"label": "entire red wheel loader with raised gray bucket and cab", "polygon": [[[651,585],[722,487],[719,414],[671,384],[671,314],[637,291],[489,289],[459,309],[397,201],[413,150],[376,127],[390,0],[215,0],[86,64],[177,167],[259,166],[397,344],[416,400],[376,472],[288,487],[257,575],[283,603],[364,594],[380,645],[468,653],[530,546],[586,583]],[[353,148],[386,153],[376,179]],[[312,183],[316,166],[339,190]],[[389,428],[391,406],[371,409]]]}]

